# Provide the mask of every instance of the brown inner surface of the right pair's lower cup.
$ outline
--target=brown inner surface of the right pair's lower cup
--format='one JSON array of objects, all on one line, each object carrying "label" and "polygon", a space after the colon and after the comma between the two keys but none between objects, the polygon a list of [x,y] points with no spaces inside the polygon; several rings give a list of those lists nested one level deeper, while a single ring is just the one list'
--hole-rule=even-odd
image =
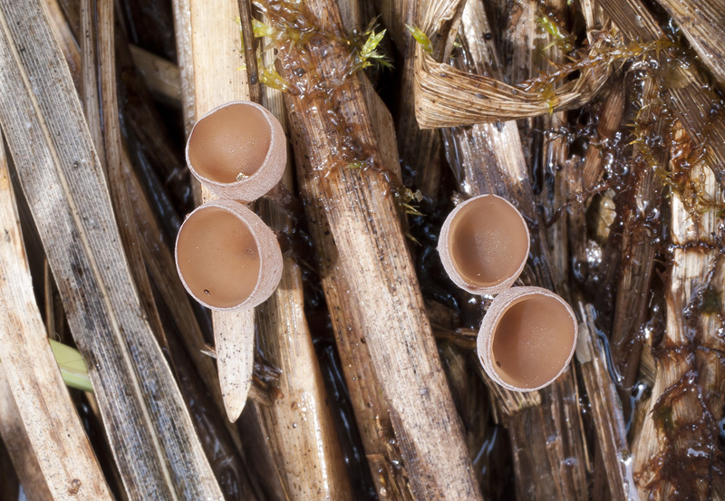
[{"label": "brown inner surface of the right pair's lower cup", "polygon": [[510,304],[493,333],[498,376],[518,388],[538,388],[565,367],[575,342],[575,319],[556,297],[530,294]]}]

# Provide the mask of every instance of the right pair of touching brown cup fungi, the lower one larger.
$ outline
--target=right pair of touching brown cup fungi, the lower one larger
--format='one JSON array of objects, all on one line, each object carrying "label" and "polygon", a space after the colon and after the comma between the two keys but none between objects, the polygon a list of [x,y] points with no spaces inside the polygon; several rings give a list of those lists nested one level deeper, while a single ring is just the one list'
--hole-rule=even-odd
[{"label": "right pair of touching brown cup fungi, the lower one larger", "polygon": [[529,251],[526,221],[495,195],[470,198],[450,212],[438,251],[450,279],[471,294],[498,294],[478,331],[478,359],[493,381],[540,390],[565,371],[578,326],[568,303],[540,287],[512,287]]}]

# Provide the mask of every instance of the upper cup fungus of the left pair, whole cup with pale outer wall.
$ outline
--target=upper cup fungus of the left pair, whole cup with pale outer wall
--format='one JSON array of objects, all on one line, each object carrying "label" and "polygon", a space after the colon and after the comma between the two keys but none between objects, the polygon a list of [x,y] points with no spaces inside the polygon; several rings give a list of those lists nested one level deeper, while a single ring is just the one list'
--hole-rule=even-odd
[{"label": "upper cup fungus of the left pair, whole cup with pale outer wall", "polygon": [[198,120],[186,155],[194,177],[218,197],[251,202],[285,172],[285,131],[264,106],[227,102]]}]

